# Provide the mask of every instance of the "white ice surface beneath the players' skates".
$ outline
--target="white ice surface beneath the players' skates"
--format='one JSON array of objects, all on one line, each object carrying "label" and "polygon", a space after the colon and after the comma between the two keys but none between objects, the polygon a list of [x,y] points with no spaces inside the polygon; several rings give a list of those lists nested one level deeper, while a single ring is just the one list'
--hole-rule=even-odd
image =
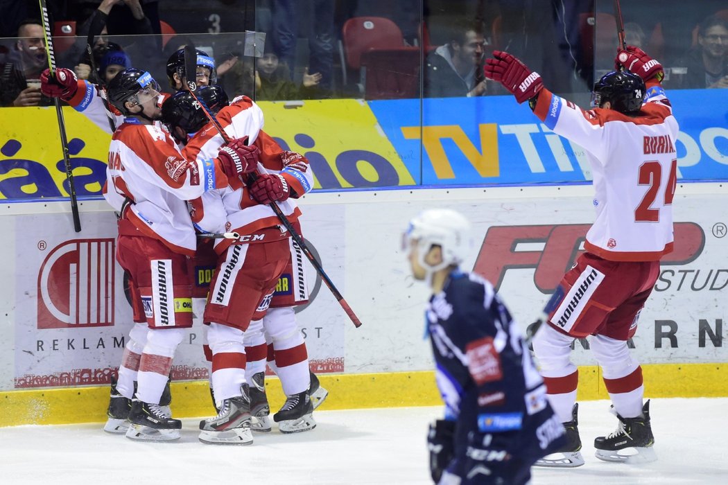
[{"label": "white ice surface beneath the players' skates", "polygon": [[[324,406],[325,407],[325,406]],[[534,468],[533,484],[728,484],[728,398],[656,399],[657,462],[625,465],[594,457],[593,438],[611,433],[607,401],[579,404],[586,464]],[[256,434],[252,446],[197,441],[198,420],[182,438],[139,443],[98,424],[0,428],[0,484],[430,484],[425,433],[440,408],[318,411],[315,430]]]}]

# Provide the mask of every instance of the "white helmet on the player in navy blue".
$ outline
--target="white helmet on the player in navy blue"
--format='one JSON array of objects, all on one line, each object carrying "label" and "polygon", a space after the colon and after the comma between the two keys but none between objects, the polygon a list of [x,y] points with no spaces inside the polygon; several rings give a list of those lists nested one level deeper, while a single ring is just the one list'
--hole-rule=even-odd
[{"label": "white helmet on the player in navy blue", "polygon": [[[470,223],[459,212],[451,209],[428,209],[410,221],[404,234],[403,249],[407,254],[416,241],[419,263],[428,272],[459,265],[470,249]],[[440,246],[443,262],[430,266],[424,257],[432,246]]]}]

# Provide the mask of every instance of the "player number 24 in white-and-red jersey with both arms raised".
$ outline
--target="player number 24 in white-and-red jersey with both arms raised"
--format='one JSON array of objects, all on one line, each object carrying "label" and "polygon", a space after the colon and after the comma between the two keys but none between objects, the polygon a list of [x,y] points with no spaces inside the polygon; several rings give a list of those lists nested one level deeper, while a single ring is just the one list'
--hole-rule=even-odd
[{"label": "player number 24 in white-and-red jersey with both arms raised", "polygon": [[553,132],[585,148],[594,174],[596,221],[585,253],[563,276],[547,305],[547,324],[534,338],[551,404],[569,437],[563,456],[542,460],[545,466],[583,464],[578,371],[569,353],[575,338],[589,336],[618,419],[614,433],[594,441],[596,456],[655,459],[642,370],[627,341],[657,281],[660,258],[673,249],[678,124],[657,60],[630,46],[617,52],[615,68],[595,84],[593,108],[582,110],[546,89],[541,76],[512,55],[495,51],[486,61],[488,79],[501,82],[518,103],[528,101]]}]

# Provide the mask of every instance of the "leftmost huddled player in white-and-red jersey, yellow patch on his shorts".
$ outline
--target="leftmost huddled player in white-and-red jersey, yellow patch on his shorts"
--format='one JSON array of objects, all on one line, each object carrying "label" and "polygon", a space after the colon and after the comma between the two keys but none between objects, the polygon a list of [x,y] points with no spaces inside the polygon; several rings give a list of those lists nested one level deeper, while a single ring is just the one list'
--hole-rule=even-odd
[{"label": "leftmost huddled player in white-and-red jersey, yellow patch on his shorts", "polygon": [[[106,173],[108,193],[125,200],[116,260],[130,273],[137,323],[124,349],[116,390],[119,400],[132,399],[127,437],[176,439],[181,422],[159,403],[175,348],[183,329],[192,324],[187,258],[194,255],[197,238],[185,201],[226,187],[227,175],[240,174],[245,153],[225,147],[217,158],[204,163],[183,159],[157,121],[159,86],[149,73],[133,68],[122,71],[109,84],[108,96],[128,116],[112,137]],[[122,430],[121,426],[112,431]]]}]

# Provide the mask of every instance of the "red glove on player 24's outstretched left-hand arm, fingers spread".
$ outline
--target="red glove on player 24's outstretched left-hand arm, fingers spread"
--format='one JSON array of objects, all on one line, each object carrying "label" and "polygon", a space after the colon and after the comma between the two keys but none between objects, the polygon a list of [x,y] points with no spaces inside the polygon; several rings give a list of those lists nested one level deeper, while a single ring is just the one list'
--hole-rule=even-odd
[{"label": "red glove on player 24's outstretched left-hand arm, fingers spread", "polygon": [[486,78],[498,81],[515,96],[518,104],[539,94],[544,84],[539,73],[531,72],[525,64],[507,52],[493,51],[483,66]]}]

